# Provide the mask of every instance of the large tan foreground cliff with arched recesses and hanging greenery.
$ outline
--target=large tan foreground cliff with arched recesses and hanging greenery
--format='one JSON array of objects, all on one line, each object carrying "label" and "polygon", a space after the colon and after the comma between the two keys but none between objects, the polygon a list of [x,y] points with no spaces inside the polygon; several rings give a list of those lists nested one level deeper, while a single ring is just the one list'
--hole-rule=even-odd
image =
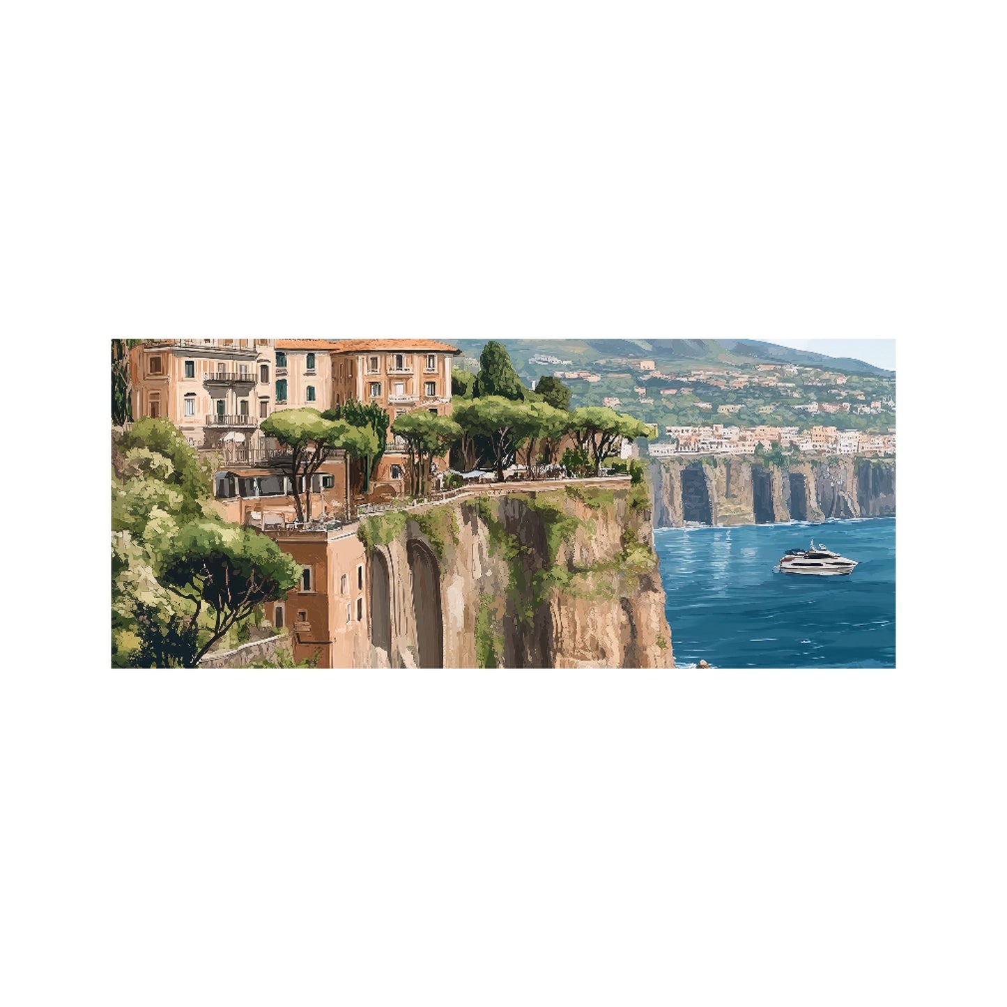
[{"label": "large tan foreground cliff with arched recesses and hanging greenery", "polygon": [[644,484],[460,498],[362,522],[372,667],[671,668]]}]

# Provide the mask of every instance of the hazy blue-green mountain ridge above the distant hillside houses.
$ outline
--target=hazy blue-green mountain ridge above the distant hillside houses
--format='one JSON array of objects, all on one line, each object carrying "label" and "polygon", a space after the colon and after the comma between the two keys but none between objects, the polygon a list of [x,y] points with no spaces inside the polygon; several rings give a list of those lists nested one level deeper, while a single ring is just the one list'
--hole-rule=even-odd
[{"label": "hazy blue-green mountain ridge above the distant hillside houses", "polygon": [[[792,349],[759,339],[500,339],[526,381],[549,373],[548,367],[529,362],[544,353],[570,361],[575,368],[587,367],[599,359],[627,357],[654,359],[663,364],[696,367],[711,364],[796,364],[826,368],[847,375],[894,378],[894,371],[856,361],[849,356],[829,356],[810,349]],[[485,339],[458,339],[455,345],[467,356],[478,357]]]}]

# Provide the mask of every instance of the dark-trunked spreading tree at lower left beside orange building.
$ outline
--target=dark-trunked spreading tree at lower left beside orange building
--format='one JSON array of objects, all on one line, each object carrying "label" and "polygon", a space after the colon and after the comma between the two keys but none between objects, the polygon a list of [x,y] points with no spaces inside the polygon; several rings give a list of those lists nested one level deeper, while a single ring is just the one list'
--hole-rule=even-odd
[{"label": "dark-trunked spreading tree at lower left beside orange building", "polygon": [[[158,580],[192,610],[175,615],[168,632],[146,633],[144,657],[153,658],[158,667],[178,659],[185,668],[196,667],[235,623],[256,605],[285,595],[300,574],[292,557],[256,531],[219,521],[185,525],[166,550]],[[208,634],[199,631],[203,605],[212,617]],[[144,615],[141,610],[141,626]]]}]

